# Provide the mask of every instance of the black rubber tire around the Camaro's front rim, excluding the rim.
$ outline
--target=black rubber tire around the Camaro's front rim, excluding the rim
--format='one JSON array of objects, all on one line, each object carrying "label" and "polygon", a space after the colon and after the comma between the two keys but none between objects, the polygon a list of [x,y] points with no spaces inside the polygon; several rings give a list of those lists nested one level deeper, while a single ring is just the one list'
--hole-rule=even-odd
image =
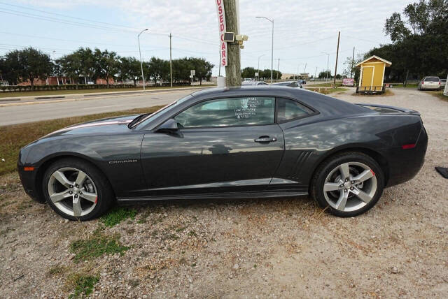
[{"label": "black rubber tire around the Camaro's front rim, excluding the rim", "polygon": [[[61,168],[76,168],[78,170],[82,170],[90,177],[90,179],[94,183],[97,191],[97,202],[95,203],[93,210],[88,214],[75,217],[73,215],[66,214],[66,212],[63,212],[62,210],[59,210],[55,203],[52,202],[48,193],[48,182],[51,175],[55,173],[56,170],[59,170]],[[43,175],[42,190],[43,195],[45,196],[45,199],[47,200],[47,203],[48,205],[50,205],[52,210],[54,210],[60,216],[69,220],[86,221],[100,217],[102,214],[107,212],[109,208],[111,208],[113,203],[115,203],[115,196],[113,194],[113,190],[111,188],[111,185],[109,184],[109,181],[104,177],[104,175],[98,170],[97,167],[83,159],[66,158],[57,160],[52,163],[45,170],[45,173]]]}]

